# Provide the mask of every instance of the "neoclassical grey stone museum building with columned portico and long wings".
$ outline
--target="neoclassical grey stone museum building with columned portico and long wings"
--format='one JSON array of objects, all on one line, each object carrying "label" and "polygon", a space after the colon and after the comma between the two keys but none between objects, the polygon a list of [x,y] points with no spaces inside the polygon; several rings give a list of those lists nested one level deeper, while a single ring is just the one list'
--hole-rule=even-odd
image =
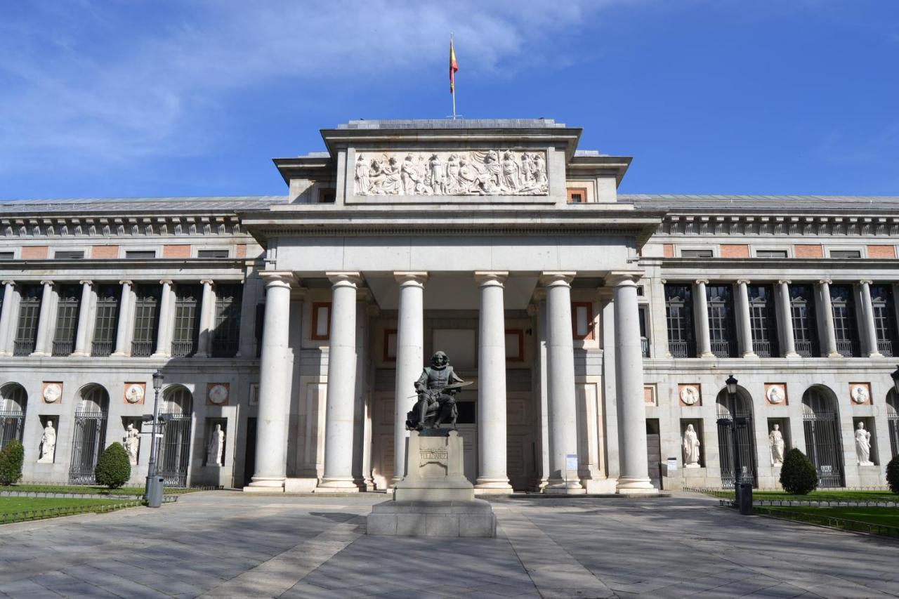
[{"label": "neoclassical grey stone museum building with columned portico and long wings", "polygon": [[385,489],[443,350],[483,493],[732,484],[734,414],[759,487],[775,428],[823,486],[884,485],[899,198],[619,194],[580,134],[352,121],[275,160],[286,196],[0,203],[0,443],[90,482],[130,425],[139,483],[159,369],[168,484]]}]

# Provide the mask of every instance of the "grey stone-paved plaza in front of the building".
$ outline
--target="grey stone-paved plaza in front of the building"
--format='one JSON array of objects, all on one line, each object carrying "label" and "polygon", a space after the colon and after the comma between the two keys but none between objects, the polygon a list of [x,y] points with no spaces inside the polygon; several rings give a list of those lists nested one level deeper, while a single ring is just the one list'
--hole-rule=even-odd
[{"label": "grey stone-paved plaza in front of the building", "polygon": [[899,542],[708,497],[494,501],[496,539],[365,536],[384,496],[204,492],[0,527],[27,597],[895,597]]}]

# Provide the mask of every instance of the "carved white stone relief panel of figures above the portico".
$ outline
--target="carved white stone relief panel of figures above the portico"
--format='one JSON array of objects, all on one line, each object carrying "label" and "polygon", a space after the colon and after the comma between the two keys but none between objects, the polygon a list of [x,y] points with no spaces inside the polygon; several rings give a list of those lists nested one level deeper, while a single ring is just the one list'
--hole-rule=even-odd
[{"label": "carved white stone relief panel of figures above the portico", "polygon": [[547,195],[545,151],[360,152],[356,195]]}]

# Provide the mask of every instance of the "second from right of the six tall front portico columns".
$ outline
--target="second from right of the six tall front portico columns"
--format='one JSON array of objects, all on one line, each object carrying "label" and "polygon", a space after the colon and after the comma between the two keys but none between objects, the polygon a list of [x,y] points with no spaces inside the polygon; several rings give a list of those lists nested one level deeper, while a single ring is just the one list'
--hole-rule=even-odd
[{"label": "second from right of the six tall front portico columns", "polygon": [[[571,282],[576,273],[541,273],[547,288],[547,374],[549,375],[549,480],[544,493],[581,494],[586,489],[577,468],[566,469],[565,457],[577,453],[577,407],[574,396],[574,343]],[[639,343],[639,335],[637,335]]]}]

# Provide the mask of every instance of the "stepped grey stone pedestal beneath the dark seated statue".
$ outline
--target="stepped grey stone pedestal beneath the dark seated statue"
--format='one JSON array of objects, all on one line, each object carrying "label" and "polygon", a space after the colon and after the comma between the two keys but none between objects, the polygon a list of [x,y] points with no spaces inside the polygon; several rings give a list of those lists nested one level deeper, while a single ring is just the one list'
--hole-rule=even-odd
[{"label": "stepped grey stone pedestal beneath the dark seated statue", "polygon": [[367,533],[405,537],[495,537],[490,504],[475,499],[462,469],[462,437],[456,431],[412,431],[406,446],[406,476],[394,498],[375,505]]}]

